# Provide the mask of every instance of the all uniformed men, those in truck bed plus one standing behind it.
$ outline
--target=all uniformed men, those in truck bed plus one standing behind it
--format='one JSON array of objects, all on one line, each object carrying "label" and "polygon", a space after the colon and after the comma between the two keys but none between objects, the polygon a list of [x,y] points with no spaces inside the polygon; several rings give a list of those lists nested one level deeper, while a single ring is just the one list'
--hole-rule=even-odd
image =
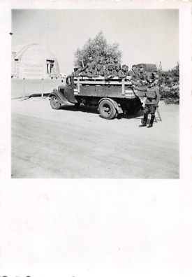
[{"label": "all uniformed men, those in truck bed plus one standing behind it", "polygon": [[[86,66],[79,67],[75,71],[75,77],[91,77],[96,78],[99,76],[104,77],[106,80],[118,77],[119,79],[130,78],[133,85],[133,90],[145,93],[145,108],[144,118],[140,127],[147,126],[148,115],[151,114],[151,119],[147,127],[152,127],[155,118],[156,108],[161,98],[158,89],[158,73],[156,70],[151,73],[147,73],[142,64],[138,67],[133,64],[131,71],[128,70],[128,66],[123,64],[121,66],[117,57],[114,59],[100,59],[96,63],[92,57],[89,57],[89,62]],[[129,77],[128,77],[129,76]]]}]

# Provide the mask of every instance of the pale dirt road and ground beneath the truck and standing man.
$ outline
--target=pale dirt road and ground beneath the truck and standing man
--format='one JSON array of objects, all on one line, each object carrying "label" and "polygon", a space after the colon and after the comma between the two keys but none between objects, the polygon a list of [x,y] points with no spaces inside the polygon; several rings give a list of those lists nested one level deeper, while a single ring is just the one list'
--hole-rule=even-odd
[{"label": "pale dirt road and ground beneath the truck and standing man", "polygon": [[50,108],[47,98],[12,100],[13,178],[179,178],[179,106],[163,121],[103,120],[93,110]]}]

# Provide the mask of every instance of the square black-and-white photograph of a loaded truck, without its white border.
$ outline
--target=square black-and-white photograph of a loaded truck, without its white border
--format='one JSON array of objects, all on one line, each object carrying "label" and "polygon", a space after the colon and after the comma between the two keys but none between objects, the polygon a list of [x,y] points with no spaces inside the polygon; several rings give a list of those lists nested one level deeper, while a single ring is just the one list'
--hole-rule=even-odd
[{"label": "square black-and-white photograph of a loaded truck, without its white border", "polygon": [[179,10],[12,10],[12,178],[179,178]]}]

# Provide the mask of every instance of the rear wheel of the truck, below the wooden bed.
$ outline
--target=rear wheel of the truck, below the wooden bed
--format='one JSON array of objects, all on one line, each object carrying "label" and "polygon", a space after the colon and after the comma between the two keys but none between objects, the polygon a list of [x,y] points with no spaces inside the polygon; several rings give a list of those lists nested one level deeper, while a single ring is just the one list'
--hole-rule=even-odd
[{"label": "rear wheel of the truck, below the wooden bed", "polygon": [[117,111],[112,102],[108,99],[104,99],[98,105],[98,112],[101,115],[101,118],[111,120],[117,116]]}]

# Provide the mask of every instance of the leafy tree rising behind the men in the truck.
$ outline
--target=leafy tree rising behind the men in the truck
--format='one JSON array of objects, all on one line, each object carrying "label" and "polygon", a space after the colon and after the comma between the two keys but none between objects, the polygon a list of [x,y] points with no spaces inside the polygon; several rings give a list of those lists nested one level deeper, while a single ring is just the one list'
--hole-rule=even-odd
[{"label": "leafy tree rising behind the men in the truck", "polygon": [[75,52],[74,65],[79,66],[82,64],[82,61],[84,65],[87,64],[90,56],[93,57],[96,62],[98,62],[101,57],[117,57],[119,61],[121,61],[121,51],[118,48],[118,43],[109,44],[103,35],[103,31],[100,31],[95,38],[88,39],[82,50],[77,48]]}]

